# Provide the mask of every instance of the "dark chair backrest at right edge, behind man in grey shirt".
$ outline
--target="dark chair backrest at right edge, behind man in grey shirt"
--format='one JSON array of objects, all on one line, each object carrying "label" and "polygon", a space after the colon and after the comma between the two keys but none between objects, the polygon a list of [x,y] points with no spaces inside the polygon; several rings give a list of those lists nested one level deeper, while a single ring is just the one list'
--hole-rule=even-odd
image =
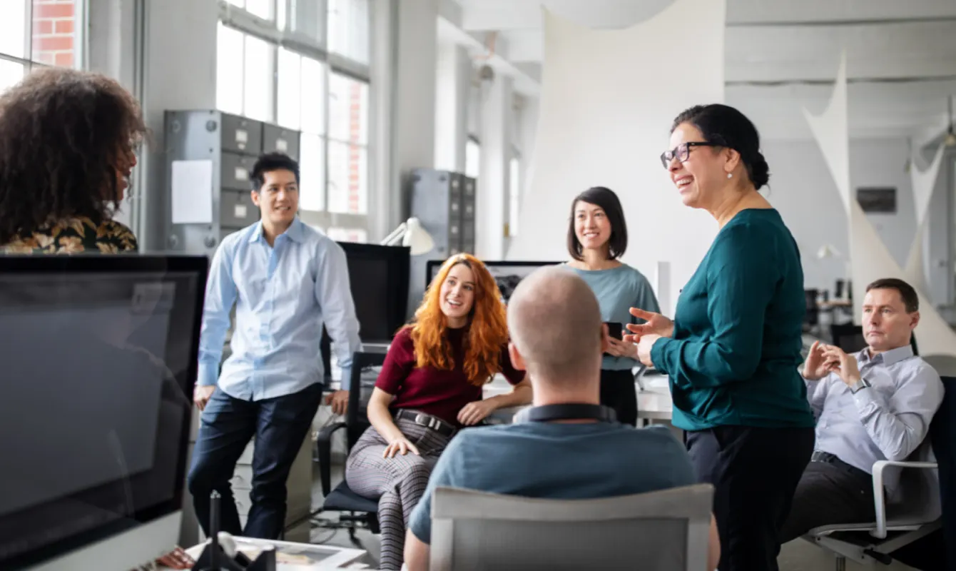
[{"label": "dark chair backrest at right edge, behind man in grey shirt", "polygon": [[943,377],[943,387],[943,405],[933,416],[929,438],[939,466],[947,568],[956,569],[956,377]]}]

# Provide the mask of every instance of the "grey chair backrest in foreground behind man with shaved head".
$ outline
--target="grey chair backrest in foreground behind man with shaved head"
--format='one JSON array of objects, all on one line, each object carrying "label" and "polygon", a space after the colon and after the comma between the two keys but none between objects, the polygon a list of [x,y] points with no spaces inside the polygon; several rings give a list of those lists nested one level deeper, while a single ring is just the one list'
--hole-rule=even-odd
[{"label": "grey chair backrest in foreground behind man with shaved head", "polygon": [[432,571],[706,568],[713,487],[542,499],[437,488]]}]

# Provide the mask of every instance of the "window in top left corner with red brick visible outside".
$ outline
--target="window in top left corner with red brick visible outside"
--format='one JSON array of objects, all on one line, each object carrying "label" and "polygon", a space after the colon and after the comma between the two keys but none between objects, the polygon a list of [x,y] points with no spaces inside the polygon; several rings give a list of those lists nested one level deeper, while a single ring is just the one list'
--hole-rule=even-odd
[{"label": "window in top left corner with red brick visible outside", "polygon": [[37,65],[79,67],[83,0],[0,0],[0,91]]}]

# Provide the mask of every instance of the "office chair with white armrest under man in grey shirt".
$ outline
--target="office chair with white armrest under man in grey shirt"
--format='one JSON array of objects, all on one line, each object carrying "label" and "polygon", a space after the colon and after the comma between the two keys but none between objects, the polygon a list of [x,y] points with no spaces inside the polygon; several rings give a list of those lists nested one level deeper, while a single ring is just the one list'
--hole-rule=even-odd
[{"label": "office chair with white armrest under man in grey shirt", "polygon": [[[952,479],[956,476],[956,378],[943,377],[943,405],[933,416],[928,442],[935,462],[893,462],[880,460],[873,465],[874,507],[877,520],[856,524],[823,525],[810,530],[803,538],[836,555],[836,571],[846,569],[846,560],[869,564],[889,564],[892,553],[943,528],[947,539],[949,567],[956,565],[956,496]],[[939,477],[932,471],[939,470]],[[883,474],[887,470],[902,471],[910,484],[905,502],[892,502],[883,492]],[[942,513],[942,515],[941,515]]]}]

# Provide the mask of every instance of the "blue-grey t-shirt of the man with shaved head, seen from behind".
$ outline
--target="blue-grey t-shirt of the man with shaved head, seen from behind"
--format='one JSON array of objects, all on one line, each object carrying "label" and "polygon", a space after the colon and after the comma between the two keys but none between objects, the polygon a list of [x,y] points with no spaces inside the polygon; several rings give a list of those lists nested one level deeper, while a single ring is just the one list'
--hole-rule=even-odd
[{"label": "blue-grey t-shirt of the man with shaved head, seen from behind", "polygon": [[588,499],[696,483],[684,447],[664,427],[526,422],[459,432],[408,520],[431,542],[437,486],[525,497]]}]

